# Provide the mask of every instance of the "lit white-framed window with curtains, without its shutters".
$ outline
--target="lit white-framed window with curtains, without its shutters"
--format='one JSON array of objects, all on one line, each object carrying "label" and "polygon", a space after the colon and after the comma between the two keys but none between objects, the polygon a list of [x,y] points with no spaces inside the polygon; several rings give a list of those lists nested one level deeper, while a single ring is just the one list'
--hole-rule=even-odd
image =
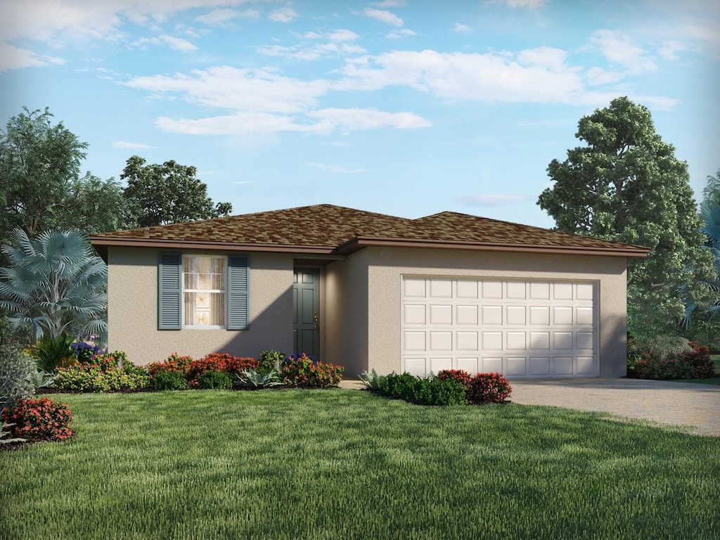
[{"label": "lit white-framed window with curtains, without its shutters", "polygon": [[225,257],[183,256],[183,324],[225,326]]}]

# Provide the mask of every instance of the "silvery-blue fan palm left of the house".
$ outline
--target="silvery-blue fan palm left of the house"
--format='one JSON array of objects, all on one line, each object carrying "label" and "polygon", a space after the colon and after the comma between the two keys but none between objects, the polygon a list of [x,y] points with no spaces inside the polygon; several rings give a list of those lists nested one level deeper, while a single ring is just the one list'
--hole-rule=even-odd
[{"label": "silvery-blue fan palm left of the house", "polygon": [[30,240],[14,231],[4,246],[10,264],[0,268],[0,307],[14,328],[30,327],[36,338],[107,335],[107,265],[94,256],[78,230],[47,231]]}]

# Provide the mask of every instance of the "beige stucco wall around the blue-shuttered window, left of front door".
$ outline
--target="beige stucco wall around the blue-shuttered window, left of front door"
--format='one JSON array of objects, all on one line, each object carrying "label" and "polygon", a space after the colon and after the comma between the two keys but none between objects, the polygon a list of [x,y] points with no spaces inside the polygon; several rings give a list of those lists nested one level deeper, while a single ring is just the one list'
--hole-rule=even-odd
[{"label": "beige stucco wall around the blue-shuttered window, left of front door", "polygon": [[161,361],[174,352],[257,358],[266,349],[292,351],[292,255],[250,254],[248,330],[158,330],[158,253],[109,248],[109,350],[125,351],[135,364]]}]

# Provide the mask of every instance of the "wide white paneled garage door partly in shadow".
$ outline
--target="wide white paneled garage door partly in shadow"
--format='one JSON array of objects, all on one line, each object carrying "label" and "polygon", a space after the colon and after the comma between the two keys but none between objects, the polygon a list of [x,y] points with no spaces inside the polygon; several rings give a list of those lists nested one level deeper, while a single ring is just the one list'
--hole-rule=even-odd
[{"label": "wide white paneled garage door partly in shadow", "polygon": [[598,377],[590,282],[402,278],[402,369]]}]

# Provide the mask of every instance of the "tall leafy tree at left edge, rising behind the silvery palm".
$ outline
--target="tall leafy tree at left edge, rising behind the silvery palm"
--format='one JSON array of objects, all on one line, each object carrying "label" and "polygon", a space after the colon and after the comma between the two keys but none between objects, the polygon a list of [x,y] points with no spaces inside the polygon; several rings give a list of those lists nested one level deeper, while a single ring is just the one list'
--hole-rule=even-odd
[{"label": "tall leafy tree at left edge, rising behind the silvery palm", "polygon": [[[89,233],[122,228],[118,205],[122,186],[87,173],[80,176],[87,143],[63,122],[53,125],[46,107],[12,117],[0,130],[0,241],[12,230],[28,235],[45,230],[80,228]],[[102,205],[102,210],[93,208]]]}]

